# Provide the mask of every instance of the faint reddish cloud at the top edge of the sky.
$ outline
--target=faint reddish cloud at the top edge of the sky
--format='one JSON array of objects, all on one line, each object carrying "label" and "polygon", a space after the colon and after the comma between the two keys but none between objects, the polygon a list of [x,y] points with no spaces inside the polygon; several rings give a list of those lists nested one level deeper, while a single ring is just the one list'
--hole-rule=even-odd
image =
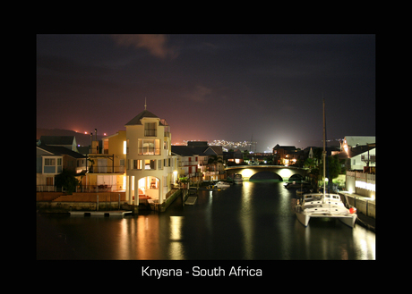
[{"label": "faint reddish cloud at the top edge of the sky", "polygon": [[175,58],[176,51],[167,45],[167,36],[151,34],[112,35],[119,46],[134,46],[149,51],[150,55],[165,59]]}]

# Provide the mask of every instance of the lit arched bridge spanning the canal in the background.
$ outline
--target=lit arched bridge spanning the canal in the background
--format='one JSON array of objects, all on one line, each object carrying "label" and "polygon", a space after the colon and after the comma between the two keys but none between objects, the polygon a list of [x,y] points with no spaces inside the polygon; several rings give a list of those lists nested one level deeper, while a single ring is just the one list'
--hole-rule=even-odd
[{"label": "lit arched bridge spanning the canal in the background", "polygon": [[[242,174],[244,180],[253,178],[258,172],[273,172],[278,175],[280,181],[298,181],[305,177],[308,169],[284,165],[237,165],[226,169],[227,176],[233,178],[235,173]],[[290,180],[289,180],[290,179]]]}]

